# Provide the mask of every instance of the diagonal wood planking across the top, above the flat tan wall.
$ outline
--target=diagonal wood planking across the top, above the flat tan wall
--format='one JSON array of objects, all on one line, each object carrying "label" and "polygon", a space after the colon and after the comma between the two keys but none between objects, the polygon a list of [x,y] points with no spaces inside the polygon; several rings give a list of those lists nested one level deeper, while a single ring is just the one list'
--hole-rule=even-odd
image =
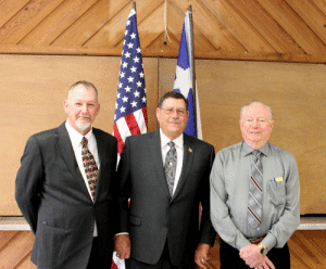
[{"label": "diagonal wood planking across the top, above the flat tan wall", "polygon": [[[196,57],[326,62],[324,0],[166,0],[166,9],[164,0],[138,0],[143,56],[177,56],[189,4]],[[0,53],[121,55],[131,7],[130,0],[0,0]]]}]

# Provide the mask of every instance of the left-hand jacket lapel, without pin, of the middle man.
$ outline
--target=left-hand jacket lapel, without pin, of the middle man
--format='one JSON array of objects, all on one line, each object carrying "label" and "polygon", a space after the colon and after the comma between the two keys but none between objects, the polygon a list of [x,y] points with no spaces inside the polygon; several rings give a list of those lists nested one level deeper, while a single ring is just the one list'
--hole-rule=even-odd
[{"label": "left-hand jacket lapel, without pin, of the middle man", "polygon": [[156,171],[156,178],[159,179],[163,191],[170,197],[168,187],[163,169],[160,129],[152,132],[152,137],[149,140],[149,150],[152,157],[153,167]]}]

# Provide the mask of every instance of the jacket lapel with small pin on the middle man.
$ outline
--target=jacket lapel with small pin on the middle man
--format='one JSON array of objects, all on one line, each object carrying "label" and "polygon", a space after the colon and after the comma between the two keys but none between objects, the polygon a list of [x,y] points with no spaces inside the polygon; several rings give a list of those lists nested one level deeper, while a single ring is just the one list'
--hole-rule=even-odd
[{"label": "jacket lapel with small pin on the middle man", "polygon": [[186,179],[191,171],[192,166],[192,159],[195,154],[195,144],[192,143],[192,140],[190,137],[184,133],[184,161],[183,161],[183,168],[181,168],[181,175],[177,184],[177,188],[173,194],[173,198],[180,192],[183,189],[183,185],[186,182]]}]

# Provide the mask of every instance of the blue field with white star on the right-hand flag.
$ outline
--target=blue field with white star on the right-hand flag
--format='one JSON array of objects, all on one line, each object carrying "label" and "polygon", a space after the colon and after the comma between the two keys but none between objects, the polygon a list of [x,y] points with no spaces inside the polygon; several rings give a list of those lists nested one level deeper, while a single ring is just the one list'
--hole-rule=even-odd
[{"label": "blue field with white star on the right-hand flag", "polygon": [[188,121],[186,125],[185,133],[197,138],[197,120],[195,113],[193,103],[193,87],[192,87],[192,76],[190,69],[190,38],[187,38],[187,34],[190,36],[190,29],[187,27],[187,20],[189,22],[189,14],[187,13],[181,41],[179,47],[179,55],[176,67],[176,75],[174,81],[174,91],[183,93],[188,100]]}]

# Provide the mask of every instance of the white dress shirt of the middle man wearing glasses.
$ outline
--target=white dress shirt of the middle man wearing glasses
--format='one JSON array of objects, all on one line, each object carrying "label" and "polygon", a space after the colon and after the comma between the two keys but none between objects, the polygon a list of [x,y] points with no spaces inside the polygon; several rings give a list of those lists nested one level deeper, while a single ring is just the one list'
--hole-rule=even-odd
[{"label": "white dress shirt of the middle man wearing glasses", "polygon": [[170,145],[167,144],[170,141],[173,141],[175,144],[175,149],[177,152],[177,167],[176,167],[176,175],[174,179],[174,185],[173,185],[173,193],[176,190],[176,187],[179,182],[179,178],[181,175],[183,169],[183,162],[184,162],[184,133],[181,133],[179,137],[177,137],[174,140],[170,140],[160,129],[160,136],[161,136],[161,150],[162,150],[162,159],[163,159],[163,166],[165,165],[165,157],[170,150]]}]

